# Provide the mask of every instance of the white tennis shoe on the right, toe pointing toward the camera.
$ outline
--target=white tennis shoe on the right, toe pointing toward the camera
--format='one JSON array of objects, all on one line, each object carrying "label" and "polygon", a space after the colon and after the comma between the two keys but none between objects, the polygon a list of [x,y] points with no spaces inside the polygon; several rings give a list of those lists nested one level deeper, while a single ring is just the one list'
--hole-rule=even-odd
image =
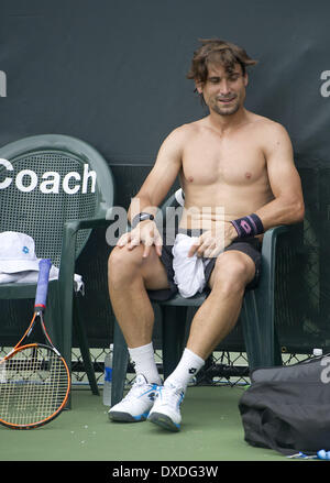
[{"label": "white tennis shoe on the right, toe pointing toward the camera", "polygon": [[164,386],[158,386],[156,400],[147,420],[169,431],[179,431],[182,422],[180,405],[184,397],[183,387],[165,382]]}]

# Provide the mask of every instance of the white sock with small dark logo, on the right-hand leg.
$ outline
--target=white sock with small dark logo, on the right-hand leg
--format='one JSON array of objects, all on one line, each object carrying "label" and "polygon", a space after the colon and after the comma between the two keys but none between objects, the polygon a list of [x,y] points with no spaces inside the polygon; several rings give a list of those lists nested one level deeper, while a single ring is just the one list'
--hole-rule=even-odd
[{"label": "white sock with small dark logo, on the right-hand leg", "polygon": [[175,386],[182,386],[184,391],[186,391],[188,383],[204,366],[204,359],[186,348],[179,363],[173,373],[166,378],[165,383],[168,382]]}]

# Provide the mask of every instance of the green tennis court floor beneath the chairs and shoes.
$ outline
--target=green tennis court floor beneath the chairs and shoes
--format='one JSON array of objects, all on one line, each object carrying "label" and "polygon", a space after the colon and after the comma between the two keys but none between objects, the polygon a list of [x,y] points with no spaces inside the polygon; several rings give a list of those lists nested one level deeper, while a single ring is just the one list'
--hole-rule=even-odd
[{"label": "green tennis court floor beneath the chairs and shoes", "polygon": [[290,461],[244,441],[242,387],[189,387],[180,432],[151,422],[110,422],[100,396],[73,391],[73,405],[48,425],[0,426],[1,461]]}]

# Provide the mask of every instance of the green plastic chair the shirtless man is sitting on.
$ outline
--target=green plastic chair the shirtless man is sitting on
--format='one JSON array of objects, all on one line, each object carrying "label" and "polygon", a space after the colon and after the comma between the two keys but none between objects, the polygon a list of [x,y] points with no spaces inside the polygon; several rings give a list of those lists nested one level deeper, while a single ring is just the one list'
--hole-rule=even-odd
[{"label": "green plastic chair the shirtless man is sitting on", "polygon": [[[167,207],[178,207],[176,196],[170,196],[163,205],[165,218]],[[262,246],[262,273],[257,287],[246,290],[240,314],[243,337],[250,371],[260,366],[282,364],[279,344],[275,332],[275,264],[276,244],[278,237],[288,231],[288,227],[279,226],[267,230]],[[184,298],[176,295],[166,301],[156,301],[162,312],[162,349],[163,372],[166,378],[180,360],[185,333],[187,310],[189,307],[199,307],[206,299],[206,294]],[[112,367],[112,399],[114,405],[121,400],[124,389],[125,374],[129,363],[129,353],[119,323],[113,327],[113,367]]]}]

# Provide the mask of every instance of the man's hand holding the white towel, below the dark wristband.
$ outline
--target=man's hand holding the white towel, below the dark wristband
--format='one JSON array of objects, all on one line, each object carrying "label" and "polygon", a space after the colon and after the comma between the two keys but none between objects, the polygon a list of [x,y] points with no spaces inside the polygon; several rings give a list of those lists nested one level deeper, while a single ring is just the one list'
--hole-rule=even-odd
[{"label": "man's hand holding the white towel, below the dark wristband", "polygon": [[196,243],[190,246],[188,256],[193,256],[196,253],[197,256],[205,256],[207,259],[217,257],[237,237],[235,228],[229,221],[224,221],[223,232],[221,229],[205,231]]}]

